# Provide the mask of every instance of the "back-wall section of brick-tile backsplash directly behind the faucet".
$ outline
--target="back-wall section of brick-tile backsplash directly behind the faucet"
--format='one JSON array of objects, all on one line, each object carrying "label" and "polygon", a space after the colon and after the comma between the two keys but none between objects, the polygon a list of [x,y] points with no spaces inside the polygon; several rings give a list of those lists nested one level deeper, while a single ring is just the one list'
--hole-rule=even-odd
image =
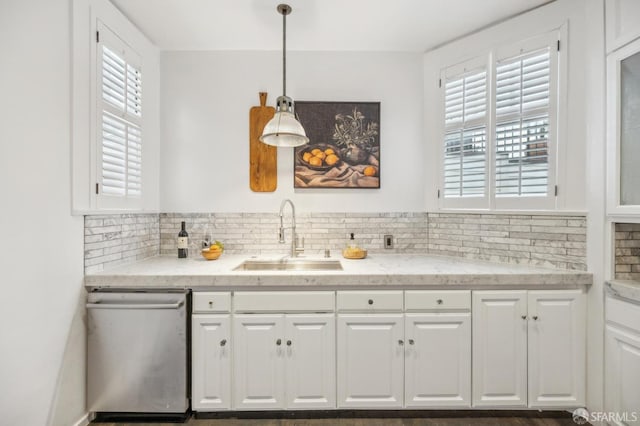
[{"label": "back-wall section of brick-tile backsplash directly behind the faucet", "polygon": [[[371,253],[424,253],[427,249],[426,213],[297,213],[296,233],[304,238],[305,253],[330,249],[333,256],[345,247],[350,233]],[[190,251],[200,250],[206,235],[225,243],[228,253],[288,254],[291,217],[285,213],[285,244],[278,243],[277,213],[161,213],[160,253],[175,254],[180,222],[189,232]],[[384,249],[391,234],[394,248]]]}]

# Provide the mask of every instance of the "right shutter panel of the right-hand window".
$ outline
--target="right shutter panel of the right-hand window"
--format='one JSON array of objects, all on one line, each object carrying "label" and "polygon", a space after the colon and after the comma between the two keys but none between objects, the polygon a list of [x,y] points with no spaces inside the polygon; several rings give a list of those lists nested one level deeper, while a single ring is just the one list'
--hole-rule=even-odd
[{"label": "right shutter panel of the right-hand window", "polygon": [[552,53],[545,46],[496,63],[496,197],[549,195]]}]

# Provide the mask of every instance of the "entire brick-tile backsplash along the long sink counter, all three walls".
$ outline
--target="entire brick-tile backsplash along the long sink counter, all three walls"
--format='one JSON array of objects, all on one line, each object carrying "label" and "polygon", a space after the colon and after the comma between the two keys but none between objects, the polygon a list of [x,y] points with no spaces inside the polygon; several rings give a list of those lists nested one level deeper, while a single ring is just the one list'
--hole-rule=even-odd
[{"label": "entire brick-tile backsplash along the long sink counter, all three walls", "polygon": [[[328,248],[337,257],[353,232],[358,244],[370,253],[429,253],[586,270],[584,216],[303,212],[296,215],[296,220],[296,231],[304,238],[307,254],[322,254]],[[206,236],[223,241],[231,254],[289,252],[289,211],[284,221],[285,244],[278,243],[277,213],[86,216],[85,272],[98,272],[158,254],[175,255],[181,221],[186,222],[189,232],[191,256],[199,252]],[[393,235],[392,249],[384,248],[387,234]],[[639,236],[640,230],[636,237]],[[629,266],[629,273],[634,268],[637,266]]]}]

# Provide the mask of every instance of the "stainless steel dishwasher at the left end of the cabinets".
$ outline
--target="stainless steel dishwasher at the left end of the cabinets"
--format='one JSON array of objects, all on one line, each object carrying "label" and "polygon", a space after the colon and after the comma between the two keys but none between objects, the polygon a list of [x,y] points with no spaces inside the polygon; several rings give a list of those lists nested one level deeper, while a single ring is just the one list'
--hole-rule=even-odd
[{"label": "stainless steel dishwasher at the left end of the cabinets", "polygon": [[87,408],[98,419],[189,411],[188,292],[90,293]]}]

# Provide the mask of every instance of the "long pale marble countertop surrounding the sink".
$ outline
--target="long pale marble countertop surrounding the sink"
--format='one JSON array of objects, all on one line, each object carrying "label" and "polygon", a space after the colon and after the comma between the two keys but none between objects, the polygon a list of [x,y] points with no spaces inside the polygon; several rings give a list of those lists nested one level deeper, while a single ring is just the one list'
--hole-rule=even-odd
[{"label": "long pale marble countertop surrounding the sink", "polygon": [[[461,258],[371,254],[366,259],[340,260],[341,271],[234,271],[247,259],[280,257],[227,255],[207,261],[158,256],[85,276],[94,288],[576,288],[590,285],[591,273],[522,265],[470,261]],[[305,257],[305,259],[321,259]]]}]

